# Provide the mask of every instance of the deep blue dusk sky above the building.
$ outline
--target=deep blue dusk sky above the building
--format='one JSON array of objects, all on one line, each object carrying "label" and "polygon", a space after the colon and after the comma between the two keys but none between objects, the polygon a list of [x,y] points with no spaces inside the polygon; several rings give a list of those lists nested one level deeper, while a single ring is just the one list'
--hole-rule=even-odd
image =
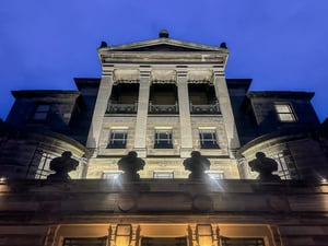
[{"label": "deep blue dusk sky above the building", "polygon": [[14,90],[75,90],[101,77],[96,48],[169,37],[231,54],[226,78],[251,91],[315,92],[328,116],[328,0],[1,0],[0,118]]}]

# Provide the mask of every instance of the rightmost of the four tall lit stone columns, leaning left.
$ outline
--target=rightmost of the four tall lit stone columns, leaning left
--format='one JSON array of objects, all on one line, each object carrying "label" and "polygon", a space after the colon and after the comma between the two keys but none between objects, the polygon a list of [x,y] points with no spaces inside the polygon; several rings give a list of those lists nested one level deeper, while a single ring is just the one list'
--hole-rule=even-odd
[{"label": "rightmost of the four tall lit stone columns, leaning left", "polygon": [[214,86],[224,120],[230,157],[235,159],[241,144],[223,71],[214,71]]}]

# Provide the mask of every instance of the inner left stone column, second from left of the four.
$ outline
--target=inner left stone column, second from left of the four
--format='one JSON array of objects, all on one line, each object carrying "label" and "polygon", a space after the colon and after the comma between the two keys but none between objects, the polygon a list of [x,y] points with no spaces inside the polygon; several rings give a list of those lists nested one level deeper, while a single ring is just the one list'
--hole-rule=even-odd
[{"label": "inner left stone column, second from left of the four", "polygon": [[147,118],[150,92],[150,71],[140,71],[138,113],[134,133],[134,151],[138,156],[147,156]]}]

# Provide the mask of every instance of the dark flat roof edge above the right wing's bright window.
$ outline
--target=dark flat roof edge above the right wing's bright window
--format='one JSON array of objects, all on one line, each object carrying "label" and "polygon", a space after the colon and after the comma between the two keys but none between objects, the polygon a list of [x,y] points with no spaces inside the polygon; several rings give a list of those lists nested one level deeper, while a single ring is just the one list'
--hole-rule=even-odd
[{"label": "dark flat roof edge above the right wing's bright window", "polygon": [[314,92],[293,92],[293,91],[260,91],[248,92],[247,97],[279,97],[279,98],[302,98],[312,99]]}]

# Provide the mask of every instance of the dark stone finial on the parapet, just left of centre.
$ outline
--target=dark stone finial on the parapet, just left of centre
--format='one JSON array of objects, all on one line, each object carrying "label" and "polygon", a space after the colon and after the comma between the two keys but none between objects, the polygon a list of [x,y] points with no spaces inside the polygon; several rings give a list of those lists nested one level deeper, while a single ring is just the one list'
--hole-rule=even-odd
[{"label": "dark stone finial on the parapet, just left of centre", "polygon": [[128,155],[118,161],[117,165],[118,169],[124,171],[124,173],[119,175],[120,180],[138,181],[140,179],[140,175],[137,172],[143,169],[144,161],[138,157],[136,151],[130,151]]}]

